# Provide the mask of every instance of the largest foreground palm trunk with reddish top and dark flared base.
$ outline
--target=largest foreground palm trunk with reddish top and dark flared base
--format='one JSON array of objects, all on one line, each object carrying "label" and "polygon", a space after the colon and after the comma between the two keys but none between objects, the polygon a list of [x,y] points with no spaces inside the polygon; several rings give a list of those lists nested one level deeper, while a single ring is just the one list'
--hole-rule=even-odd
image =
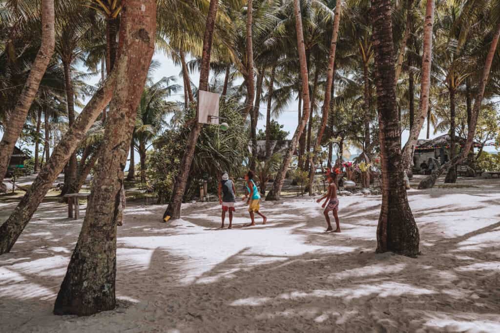
[{"label": "largest foreground palm trunk with reddish top and dark flared base", "polygon": [[156,1],[127,0],[120,22],[116,85],[85,219],[54,304],[56,315],[89,316],[115,307],[116,216],[137,105],[154,53]]}]

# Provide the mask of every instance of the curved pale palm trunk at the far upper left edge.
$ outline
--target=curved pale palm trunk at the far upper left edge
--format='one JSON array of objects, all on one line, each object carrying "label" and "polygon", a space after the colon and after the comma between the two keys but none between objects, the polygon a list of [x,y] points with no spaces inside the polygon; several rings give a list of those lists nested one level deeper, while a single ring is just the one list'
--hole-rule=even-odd
[{"label": "curved pale palm trunk at the far upper left edge", "polygon": [[0,141],[0,184],[3,182],[14,145],[21,134],[31,103],[38,91],[40,80],[54,53],[54,0],[41,2],[41,45],[31,65],[28,78],[22,88],[13,112],[8,117],[8,126],[3,128]]}]

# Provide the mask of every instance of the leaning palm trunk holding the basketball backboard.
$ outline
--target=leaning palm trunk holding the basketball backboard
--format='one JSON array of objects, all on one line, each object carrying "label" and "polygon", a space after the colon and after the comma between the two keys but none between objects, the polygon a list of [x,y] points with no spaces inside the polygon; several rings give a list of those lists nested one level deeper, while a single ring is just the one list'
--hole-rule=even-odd
[{"label": "leaning palm trunk holding the basketball backboard", "polygon": [[[210,71],[210,53],[212,48],[213,39],[213,28],[215,26],[215,15],[217,14],[217,0],[210,0],[210,5],[208,7],[208,14],[206,16],[205,33],[203,36],[203,53],[201,55],[201,69],[199,71],[199,90],[208,90],[208,74]],[[199,108],[199,103],[198,103]],[[180,162],[179,173],[175,177],[175,182],[173,184],[172,197],[170,203],[166,208],[163,218],[170,216],[171,219],[178,219],[180,217],[180,204],[182,203],[182,197],[184,196],[187,177],[189,175],[189,170],[191,168],[191,162],[194,155],[194,148],[196,147],[196,141],[198,141],[199,132],[201,131],[202,124],[197,122],[197,111],[196,111],[196,123],[189,133],[187,138],[187,147],[182,156],[182,161]]]}]

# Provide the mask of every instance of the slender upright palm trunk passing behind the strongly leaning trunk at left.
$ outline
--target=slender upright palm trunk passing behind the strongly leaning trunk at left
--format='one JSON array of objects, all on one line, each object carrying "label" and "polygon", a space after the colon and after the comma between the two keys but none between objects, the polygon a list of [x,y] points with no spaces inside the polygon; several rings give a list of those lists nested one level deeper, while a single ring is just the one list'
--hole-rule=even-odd
[{"label": "slender upright palm trunk passing behind the strongly leaning trunk at left", "polygon": [[[71,82],[71,59],[66,58],[62,61],[62,66],[64,68],[64,88],[66,90],[66,105],[67,105],[67,115],[68,115],[68,124],[71,127],[74,124],[74,95],[73,95],[73,84]],[[74,193],[74,181],[76,180],[76,153],[71,154],[69,158],[69,164],[67,171],[68,173],[64,173],[64,185],[65,188],[61,191],[61,195],[66,193]],[[66,187],[67,186],[67,187]],[[72,205],[68,205],[68,216],[72,216],[71,207]]]}]

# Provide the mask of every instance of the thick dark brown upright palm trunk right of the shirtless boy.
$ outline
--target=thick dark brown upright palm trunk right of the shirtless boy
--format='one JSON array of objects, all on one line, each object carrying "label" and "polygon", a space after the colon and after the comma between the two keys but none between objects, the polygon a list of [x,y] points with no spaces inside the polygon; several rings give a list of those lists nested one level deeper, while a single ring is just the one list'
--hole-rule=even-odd
[{"label": "thick dark brown upright palm trunk right of the shirtless boy", "polygon": [[408,205],[401,164],[400,133],[394,87],[390,0],[371,0],[375,48],[375,85],[382,169],[382,206],[377,227],[377,252],[418,255],[418,228]]}]

